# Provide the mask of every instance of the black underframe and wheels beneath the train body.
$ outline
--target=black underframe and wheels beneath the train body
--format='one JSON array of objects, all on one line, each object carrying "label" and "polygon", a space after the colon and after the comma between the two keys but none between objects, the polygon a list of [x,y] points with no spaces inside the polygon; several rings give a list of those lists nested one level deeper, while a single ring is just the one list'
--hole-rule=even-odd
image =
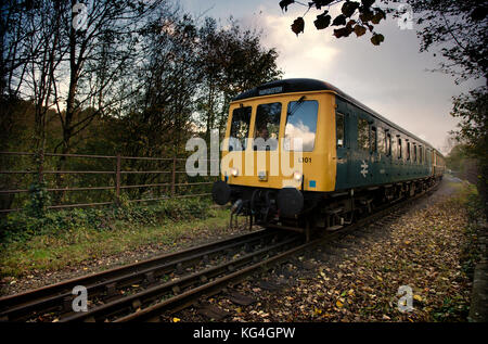
[{"label": "black underframe and wheels beneath the train body", "polygon": [[278,206],[279,190],[231,186],[231,226],[237,216],[253,225],[301,232],[309,240],[317,230],[334,231],[383,207],[425,192],[442,177],[429,177],[402,182],[342,190],[335,192],[303,192],[303,208],[294,216],[283,216]]}]

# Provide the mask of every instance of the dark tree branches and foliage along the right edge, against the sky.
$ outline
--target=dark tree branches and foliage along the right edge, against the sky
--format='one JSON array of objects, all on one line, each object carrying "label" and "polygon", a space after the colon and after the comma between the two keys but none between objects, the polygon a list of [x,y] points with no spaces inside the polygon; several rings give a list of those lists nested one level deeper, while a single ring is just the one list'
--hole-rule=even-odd
[{"label": "dark tree branches and foliage along the right edge, against the sky", "polygon": [[[420,25],[421,51],[440,52],[440,71],[455,82],[488,77],[488,2],[478,0],[409,0]],[[488,215],[488,91],[486,86],[453,98],[451,115],[460,118],[453,131],[466,153],[477,161],[479,194]],[[487,216],[488,218],[488,216]]]}]

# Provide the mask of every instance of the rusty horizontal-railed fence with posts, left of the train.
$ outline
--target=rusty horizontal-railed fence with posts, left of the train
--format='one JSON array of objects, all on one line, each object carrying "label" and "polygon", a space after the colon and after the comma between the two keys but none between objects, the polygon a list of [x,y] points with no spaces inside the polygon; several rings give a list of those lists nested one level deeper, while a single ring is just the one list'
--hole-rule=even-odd
[{"label": "rusty horizontal-railed fence with posts, left of the train", "polygon": [[29,187],[37,181],[46,182],[51,200],[48,208],[52,209],[111,205],[121,199],[151,202],[208,196],[217,177],[190,177],[185,162],[177,156],[0,152],[0,214],[22,211]]}]

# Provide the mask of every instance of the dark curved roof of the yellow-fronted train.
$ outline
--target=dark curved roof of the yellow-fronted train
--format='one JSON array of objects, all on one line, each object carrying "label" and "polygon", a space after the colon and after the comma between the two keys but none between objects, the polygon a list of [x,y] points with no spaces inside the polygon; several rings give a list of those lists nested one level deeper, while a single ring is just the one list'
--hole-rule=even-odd
[{"label": "dark curved roof of the yellow-fronted train", "polygon": [[[370,113],[372,116],[376,117],[380,120],[385,122],[393,128],[402,131],[403,133],[412,137],[419,142],[422,142],[425,145],[428,145],[431,149],[436,150],[432,144],[428,142],[425,142],[424,140],[420,139],[419,137],[414,136],[413,133],[409,132],[408,130],[401,128],[400,126],[396,125],[395,123],[390,122],[389,119],[383,117],[377,112],[371,110],[367,105],[362,104],[361,102],[357,101],[352,97],[348,95],[347,93],[339,90],[337,87],[317,79],[306,79],[306,78],[296,78],[296,79],[282,79],[282,80],[275,80],[262,84],[258,87],[255,87],[248,91],[245,91],[232,99],[233,102],[248,99],[248,98],[255,98],[255,97],[264,97],[264,95],[271,95],[271,94],[280,94],[280,93],[295,93],[295,92],[309,92],[309,91],[332,91],[336,93],[342,99],[352,103],[354,105],[362,109],[363,111]],[[436,150],[437,151],[437,150]]]}]

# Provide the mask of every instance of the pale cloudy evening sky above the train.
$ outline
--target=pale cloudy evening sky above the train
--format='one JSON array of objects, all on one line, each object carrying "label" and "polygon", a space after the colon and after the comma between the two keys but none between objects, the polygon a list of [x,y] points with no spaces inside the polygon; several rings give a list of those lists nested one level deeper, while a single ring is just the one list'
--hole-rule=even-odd
[{"label": "pale cloudy evening sky above the train", "polygon": [[415,24],[413,29],[400,29],[397,20],[382,21],[375,30],[385,36],[385,41],[373,46],[369,33],[336,39],[331,28],[317,30],[313,21],[320,12],[316,10],[305,16],[305,33],[297,37],[291,25],[306,8],[296,3],[282,12],[279,0],[178,2],[195,17],[220,18],[224,26],[232,15],[243,28],[262,30],[262,44],[279,53],[283,78],[331,82],[445,154],[448,132],[458,124],[449,114],[452,97],[481,85],[480,80],[455,85],[452,76],[432,72],[439,66],[439,54],[419,52]]}]

